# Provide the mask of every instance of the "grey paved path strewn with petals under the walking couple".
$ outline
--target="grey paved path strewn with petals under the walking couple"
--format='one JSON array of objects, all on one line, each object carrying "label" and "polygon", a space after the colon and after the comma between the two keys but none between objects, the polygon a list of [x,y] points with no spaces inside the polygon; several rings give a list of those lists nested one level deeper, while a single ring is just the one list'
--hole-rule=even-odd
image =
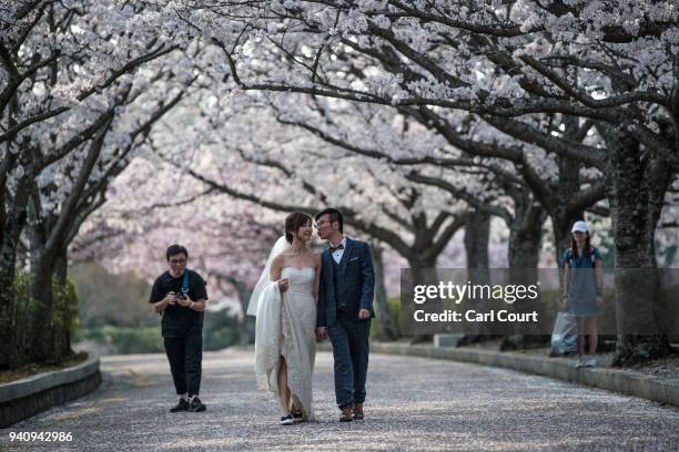
[{"label": "grey paved path strewn with petals under the walking couple", "polygon": [[[679,450],[679,410],[543,377],[424,358],[371,356],[364,422],[338,423],[332,356],[318,353],[320,422],[277,425],[253,389],[252,351],[205,353],[204,413],[170,413],[162,355],[102,360],[97,392],[0,430],[1,451]],[[17,431],[70,431],[71,443],[9,442]]]}]

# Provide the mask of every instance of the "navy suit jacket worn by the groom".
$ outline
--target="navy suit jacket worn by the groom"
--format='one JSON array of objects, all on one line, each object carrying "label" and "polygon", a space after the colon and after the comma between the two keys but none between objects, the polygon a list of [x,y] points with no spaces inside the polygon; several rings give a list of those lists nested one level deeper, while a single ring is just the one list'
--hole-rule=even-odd
[{"label": "navy suit jacket worn by the groom", "polygon": [[[345,306],[347,312],[355,314],[356,321],[359,321],[359,309],[367,309],[371,311],[371,318],[375,317],[373,310],[375,273],[368,244],[347,237],[346,248],[338,266],[334,263],[330,249],[325,249],[321,258],[321,287],[318,290],[316,326],[332,327],[335,325],[340,306]],[[337,271],[337,275],[335,275],[335,271]],[[335,287],[335,279],[337,280],[337,287]]]}]

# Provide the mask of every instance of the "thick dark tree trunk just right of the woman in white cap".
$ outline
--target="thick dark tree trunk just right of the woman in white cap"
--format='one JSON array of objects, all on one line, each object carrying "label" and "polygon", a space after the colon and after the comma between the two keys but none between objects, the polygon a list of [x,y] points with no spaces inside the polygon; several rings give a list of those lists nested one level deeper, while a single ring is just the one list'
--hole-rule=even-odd
[{"label": "thick dark tree trunk just right of the woman in white cap", "polygon": [[629,366],[670,353],[658,296],[655,234],[673,174],[669,164],[614,127],[607,130],[607,144],[606,195],[616,246],[615,364]]}]

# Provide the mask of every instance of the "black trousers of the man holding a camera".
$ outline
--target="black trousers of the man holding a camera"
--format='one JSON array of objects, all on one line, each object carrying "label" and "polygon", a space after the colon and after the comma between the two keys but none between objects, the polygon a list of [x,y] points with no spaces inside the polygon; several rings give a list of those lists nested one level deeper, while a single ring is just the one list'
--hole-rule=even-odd
[{"label": "black trousers of the man holding a camera", "polygon": [[164,338],[164,341],[176,393],[197,396],[201,391],[203,336]]}]

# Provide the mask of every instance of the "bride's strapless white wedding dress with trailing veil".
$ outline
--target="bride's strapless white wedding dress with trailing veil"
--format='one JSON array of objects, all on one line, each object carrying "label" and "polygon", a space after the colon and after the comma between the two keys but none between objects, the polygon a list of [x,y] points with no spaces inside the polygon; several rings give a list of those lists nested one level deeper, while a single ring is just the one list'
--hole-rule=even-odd
[{"label": "bride's strapless white wedding dress with trailing veil", "polygon": [[[274,247],[274,250],[277,249]],[[271,258],[275,256],[272,250]],[[267,265],[268,267],[268,265]],[[267,278],[267,268],[257,284],[247,314],[256,315],[255,377],[257,387],[278,398],[280,357],[287,363],[290,411],[301,411],[304,420],[314,420],[312,378],[316,357],[316,300],[314,267],[284,267],[281,278],[290,278],[281,295],[276,281]]]}]

